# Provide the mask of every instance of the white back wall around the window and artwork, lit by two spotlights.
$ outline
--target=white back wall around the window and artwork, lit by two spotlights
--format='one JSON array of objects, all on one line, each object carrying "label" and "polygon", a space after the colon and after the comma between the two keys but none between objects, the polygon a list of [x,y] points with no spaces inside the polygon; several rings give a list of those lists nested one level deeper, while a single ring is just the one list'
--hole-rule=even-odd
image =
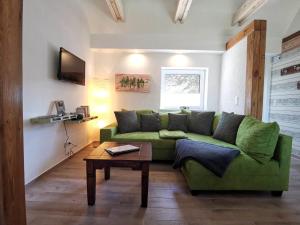
[{"label": "white back wall around the window and artwork, lit by two spotlights", "polygon": [[[111,92],[109,110],[145,109],[158,110],[160,106],[161,67],[207,67],[208,101],[207,110],[218,111],[221,54],[190,53],[143,53],[96,52],[95,74],[100,79],[107,79]],[[114,90],[115,73],[142,73],[151,75],[150,93],[116,92]],[[107,121],[114,120],[113,114]]]}]

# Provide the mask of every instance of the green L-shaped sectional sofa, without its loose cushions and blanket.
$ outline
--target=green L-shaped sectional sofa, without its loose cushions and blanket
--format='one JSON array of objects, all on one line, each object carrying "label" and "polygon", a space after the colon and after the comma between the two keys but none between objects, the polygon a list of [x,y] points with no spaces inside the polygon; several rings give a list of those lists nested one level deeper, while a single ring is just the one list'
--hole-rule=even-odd
[{"label": "green L-shaped sectional sofa, without its loose cushions and blanket", "polygon": [[[167,121],[162,119],[162,127]],[[219,118],[215,117],[213,127],[217,126]],[[213,130],[214,130],[213,129]],[[175,143],[173,139],[161,139],[158,132],[132,132],[118,134],[116,124],[111,124],[100,130],[100,141],[145,141],[152,143],[153,160],[173,160]],[[236,145],[216,140],[211,136],[186,133],[191,140],[202,141],[224,147],[240,150]],[[261,164],[240,150],[240,155],[229,165],[225,175],[220,178],[203,167],[197,161],[185,161],[181,170],[191,191],[197,190],[255,190],[272,191],[274,195],[281,195],[288,190],[289,170],[292,149],[292,138],[279,135],[273,158]],[[192,192],[193,193],[193,192]]]}]

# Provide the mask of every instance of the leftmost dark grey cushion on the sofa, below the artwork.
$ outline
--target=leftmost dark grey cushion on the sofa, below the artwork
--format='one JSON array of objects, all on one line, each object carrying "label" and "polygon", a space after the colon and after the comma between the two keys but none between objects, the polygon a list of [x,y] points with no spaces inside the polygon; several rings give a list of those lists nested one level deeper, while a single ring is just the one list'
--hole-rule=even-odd
[{"label": "leftmost dark grey cushion on the sofa, below the artwork", "polygon": [[115,112],[118,122],[118,132],[127,133],[140,130],[140,124],[135,111]]}]

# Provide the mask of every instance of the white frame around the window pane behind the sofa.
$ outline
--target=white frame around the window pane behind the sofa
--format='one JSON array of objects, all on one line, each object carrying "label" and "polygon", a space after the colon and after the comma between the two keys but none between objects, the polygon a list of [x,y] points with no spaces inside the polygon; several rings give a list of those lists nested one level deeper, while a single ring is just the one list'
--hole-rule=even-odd
[{"label": "white frame around the window pane behind the sofa", "polygon": [[[184,72],[180,72],[184,71]],[[161,88],[160,88],[160,109],[162,110],[178,110],[180,106],[168,107],[165,103],[166,91],[165,91],[165,75],[167,74],[204,74],[200,76],[200,102],[198,106],[189,106],[192,110],[205,110],[207,106],[207,76],[208,68],[205,67],[161,67]]]}]

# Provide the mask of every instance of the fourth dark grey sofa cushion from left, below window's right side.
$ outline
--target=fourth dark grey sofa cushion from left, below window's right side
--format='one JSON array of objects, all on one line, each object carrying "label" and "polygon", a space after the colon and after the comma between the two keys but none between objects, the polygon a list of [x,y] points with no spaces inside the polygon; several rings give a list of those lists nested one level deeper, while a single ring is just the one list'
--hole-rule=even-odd
[{"label": "fourth dark grey sofa cushion from left, below window's right side", "polygon": [[188,117],[189,131],[197,134],[211,135],[214,115],[215,112],[191,111]]}]

